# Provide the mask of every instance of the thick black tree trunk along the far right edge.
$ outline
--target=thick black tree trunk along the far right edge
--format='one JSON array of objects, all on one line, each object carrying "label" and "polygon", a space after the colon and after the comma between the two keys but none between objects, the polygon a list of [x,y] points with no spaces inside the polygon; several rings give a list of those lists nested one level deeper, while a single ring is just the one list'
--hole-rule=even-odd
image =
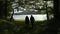
[{"label": "thick black tree trunk along the far right edge", "polygon": [[60,25],[59,0],[54,0],[54,26],[56,33],[58,33],[58,26]]}]

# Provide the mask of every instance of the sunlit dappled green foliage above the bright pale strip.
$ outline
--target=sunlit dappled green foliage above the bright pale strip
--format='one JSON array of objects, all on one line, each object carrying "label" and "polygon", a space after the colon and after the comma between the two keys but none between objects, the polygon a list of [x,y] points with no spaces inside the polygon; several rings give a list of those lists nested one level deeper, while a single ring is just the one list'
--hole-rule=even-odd
[{"label": "sunlit dappled green foliage above the bright pale strip", "polygon": [[53,0],[15,0],[14,3],[17,10],[23,11],[23,15],[47,14],[47,19],[49,20],[49,16],[53,14]]}]

